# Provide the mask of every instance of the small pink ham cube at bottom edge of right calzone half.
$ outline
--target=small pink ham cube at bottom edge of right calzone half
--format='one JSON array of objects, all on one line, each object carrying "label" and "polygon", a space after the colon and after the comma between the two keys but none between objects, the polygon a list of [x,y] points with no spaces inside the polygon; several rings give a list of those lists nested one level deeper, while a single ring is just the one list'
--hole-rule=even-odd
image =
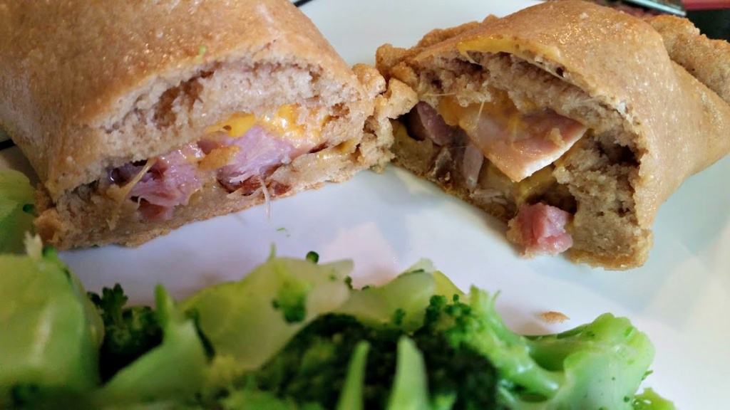
[{"label": "small pink ham cube at bottom edge of right calzone half", "polygon": [[526,255],[558,254],[572,247],[573,239],[566,231],[571,215],[546,204],[523,205],[510,221],[507,237],[523,247]]}]

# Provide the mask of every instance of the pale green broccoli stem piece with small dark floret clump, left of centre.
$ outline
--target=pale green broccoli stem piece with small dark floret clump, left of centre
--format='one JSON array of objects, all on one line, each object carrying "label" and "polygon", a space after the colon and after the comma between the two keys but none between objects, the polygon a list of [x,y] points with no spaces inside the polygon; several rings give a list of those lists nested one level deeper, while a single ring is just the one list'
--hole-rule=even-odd
[{"label": "pale green broccoli stem piece with small dark floret clump, left of centre", "polygon": [[261,367],[320,314],[347,301],[349,261],[316,265],[270,258],[240,282],[208,287],[183,302],[195,312],[216,355],[234,357],[239,370]]}]

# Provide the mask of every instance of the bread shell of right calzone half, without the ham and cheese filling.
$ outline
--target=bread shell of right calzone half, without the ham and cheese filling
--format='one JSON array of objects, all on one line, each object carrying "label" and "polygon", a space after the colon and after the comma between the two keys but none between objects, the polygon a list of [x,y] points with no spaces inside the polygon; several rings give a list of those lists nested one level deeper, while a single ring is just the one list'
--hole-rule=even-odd
[{"label": "bread shell of right calzone half, without the ham and cheese filling", "polygon": [[[588,126],[550,166],[556,183],[541,198],[574,201],[568,206],[575,213],[569,258],[632,268],[648,258],[658,207],[687,177],[730,150],[730,107],[723,100],[727,43],[696,30],[672,37],[661,21],[650,20],[660,35],[613,9],[548,1],[505,18],[434,30],[408,50],[384,45],[377,67],[434,108],[442,96],[466,106],[506,92],[518,108],[553,109]],[[663,26],[675,32],[691,26],[680,19],[669,23]],[[683,44],[704,48],[692,53]],[[502,220],[515,216],[508,196],[495,201],[494,193],[465,187],[458,173],[463,147],[438,147],[401,129],[393,151],[397,164],[447,192]],[[488,169],[483,166],[480,182]]]}]

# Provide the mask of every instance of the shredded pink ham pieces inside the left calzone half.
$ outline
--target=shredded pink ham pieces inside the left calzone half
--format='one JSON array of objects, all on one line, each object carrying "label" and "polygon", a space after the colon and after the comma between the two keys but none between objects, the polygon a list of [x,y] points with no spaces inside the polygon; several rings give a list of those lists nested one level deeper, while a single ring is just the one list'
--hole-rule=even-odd
[{"label": "shredded pink ham pieces inside the left calzone half", "polygon": [[312,142],[300,140],[295,145],[258,125],[237,138],[222,132],[209,134],[146,163],[113,169],[107,195],[137,201],[145,220],[169,220],[175,207],[188,204],[203,186],[205,173],[212,171],[228,192],[250,195],[262,190],[269,215],[271,196],[264,180],[277,166],[312,148]]}]

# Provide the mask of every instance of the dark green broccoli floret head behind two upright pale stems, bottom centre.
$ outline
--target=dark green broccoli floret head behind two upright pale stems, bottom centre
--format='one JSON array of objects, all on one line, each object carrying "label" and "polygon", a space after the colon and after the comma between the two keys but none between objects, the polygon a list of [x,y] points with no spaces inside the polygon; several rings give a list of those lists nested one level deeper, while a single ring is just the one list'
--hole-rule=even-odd
[{"label": "dark green broccoli floret head behind two upright pale stems, bottom centre", "polygon": [[[334,409],[346,379],[350,357],[367,341],[364,408],[384,409],[396,374],[398,341],[404,331],[371,327],[345,314],[328,314],[301,330],[263,368],[249,374],[258,390],[301,405]],[[450,347],[445,336],[423,329],[412,335],[426,363],[434,409],[493,409],[496,371],[477,352]]]}]

